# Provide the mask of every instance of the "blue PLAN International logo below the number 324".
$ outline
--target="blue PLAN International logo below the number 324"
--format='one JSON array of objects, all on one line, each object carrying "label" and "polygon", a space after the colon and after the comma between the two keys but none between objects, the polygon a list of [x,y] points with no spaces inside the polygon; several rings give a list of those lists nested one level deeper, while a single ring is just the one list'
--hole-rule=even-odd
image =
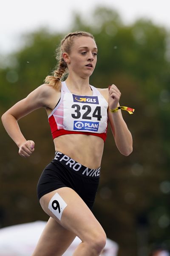
[{"label": "blue PLAN International logo below the number 324", "polygon": [[74,121],[74,131],[98,131],[99,122]]}]

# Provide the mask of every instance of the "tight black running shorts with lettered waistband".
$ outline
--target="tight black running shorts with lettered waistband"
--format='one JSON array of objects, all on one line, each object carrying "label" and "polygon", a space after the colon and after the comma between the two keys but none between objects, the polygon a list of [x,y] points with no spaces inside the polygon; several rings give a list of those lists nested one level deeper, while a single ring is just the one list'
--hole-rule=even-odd
[{"label": "tight black running shorts with lettered waistband", "polygon": [[45,167],[37,184],[38,199],[55,189],[69,187],[91,209],[99,185],[100,167],[90,169],[61,152]]}]

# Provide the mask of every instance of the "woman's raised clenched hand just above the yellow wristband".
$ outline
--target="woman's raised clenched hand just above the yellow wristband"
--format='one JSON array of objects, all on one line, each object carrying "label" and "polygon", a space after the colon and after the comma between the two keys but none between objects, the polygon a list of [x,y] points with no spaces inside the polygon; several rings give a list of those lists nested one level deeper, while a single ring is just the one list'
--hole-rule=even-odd
[{"label": "woman's raised clenched hand just above the yellow wristband", "polygon": [[119,89],[116,87],[116,85],[112,84],[109,86],[109,108],[110,109],[115,109],[119,105],[119,99],[121,96],[121,92]]}]

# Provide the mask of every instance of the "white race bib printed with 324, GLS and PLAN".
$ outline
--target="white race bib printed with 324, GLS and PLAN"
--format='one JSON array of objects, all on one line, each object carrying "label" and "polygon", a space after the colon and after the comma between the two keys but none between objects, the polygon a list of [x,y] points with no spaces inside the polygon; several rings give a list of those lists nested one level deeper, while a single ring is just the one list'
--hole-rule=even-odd
[{"label": "white race bib printed with 324, GLS and PLAN", "polygon": [[106,131],[108,103],[102,95],[80,96],[65,93],[63,104],[65,130],[93,133]]}]

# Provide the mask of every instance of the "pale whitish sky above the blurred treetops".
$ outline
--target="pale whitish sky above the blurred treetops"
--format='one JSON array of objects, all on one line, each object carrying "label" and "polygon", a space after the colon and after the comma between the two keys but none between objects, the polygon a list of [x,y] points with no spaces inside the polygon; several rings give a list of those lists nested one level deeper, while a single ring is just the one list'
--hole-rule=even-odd
[{"label": "pale whitish sky above the blurred treetops", "polygon": [[0,12],[0,53],[8,53],[19,47],[19,36],[41,26],[52,30],[66,30],[71,24],[73,12],[89,19],[96,6],[116,9],[124,23],[132,23],[139,17],[170,29],[170,0],[2,0]]}]

